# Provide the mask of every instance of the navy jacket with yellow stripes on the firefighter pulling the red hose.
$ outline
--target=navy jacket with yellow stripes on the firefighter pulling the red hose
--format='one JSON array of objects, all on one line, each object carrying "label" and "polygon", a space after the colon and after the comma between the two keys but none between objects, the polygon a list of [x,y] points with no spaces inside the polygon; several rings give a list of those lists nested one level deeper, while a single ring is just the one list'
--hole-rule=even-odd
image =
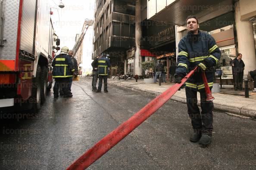
[{"label": "navy jacket with yellow stripes on the firefighter pulling the red hose", "polygon": [[[213,67],[218,64],[221,52],[214,38],[208,33],[198,30],[198,34],[188,33],[178,44],[178,59],[175,74],[186,76],[198,64],[206,67],[201,62],[206,59],[209,66],[206,67],[206,78],[209,87],[213,85]],[[195,72],[186,82],[186,88],[201,90],[204,88],[202,73]]]}]

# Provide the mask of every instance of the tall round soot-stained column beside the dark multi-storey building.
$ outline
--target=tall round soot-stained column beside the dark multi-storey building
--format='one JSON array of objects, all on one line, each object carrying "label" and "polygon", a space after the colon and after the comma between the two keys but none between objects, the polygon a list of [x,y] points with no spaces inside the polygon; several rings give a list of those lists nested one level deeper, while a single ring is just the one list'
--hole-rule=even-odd
[{"label": "tall round soot-stained column beside the dark multi-storey building", "polygon": [[134,74],[142,75],[141,55],[140,55],[140,41],[142,37],[141,27],[141,11],[140,0],[136,0],[135,7],[135,57],[134,57]]}]

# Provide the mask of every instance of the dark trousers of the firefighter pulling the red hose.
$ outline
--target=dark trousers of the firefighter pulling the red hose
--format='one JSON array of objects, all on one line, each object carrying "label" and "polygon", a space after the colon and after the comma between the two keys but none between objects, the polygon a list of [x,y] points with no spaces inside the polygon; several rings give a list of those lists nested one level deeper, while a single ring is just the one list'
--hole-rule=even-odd
[{"label": "dark trousers of the firefighter pulling the red hose", "polygon": [[202,112],[197,106],[197,91],[186,88],[186,97],[187,97],[187,112],[191,119],[193,129],[201,129],[202,134],[207,134],[212,136],[212,110],[213,102],[206,101],[206,92],[200,91],[200,106]]}]

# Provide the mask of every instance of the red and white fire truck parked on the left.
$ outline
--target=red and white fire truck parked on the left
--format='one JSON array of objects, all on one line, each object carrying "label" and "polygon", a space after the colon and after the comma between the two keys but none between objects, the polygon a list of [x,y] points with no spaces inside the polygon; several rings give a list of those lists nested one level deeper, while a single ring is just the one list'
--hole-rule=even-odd
[{"label": "red and white fire truck parked on the left", "polygon": [[59,39],[51,0],[0,0],[0,112],[44,103]]}]

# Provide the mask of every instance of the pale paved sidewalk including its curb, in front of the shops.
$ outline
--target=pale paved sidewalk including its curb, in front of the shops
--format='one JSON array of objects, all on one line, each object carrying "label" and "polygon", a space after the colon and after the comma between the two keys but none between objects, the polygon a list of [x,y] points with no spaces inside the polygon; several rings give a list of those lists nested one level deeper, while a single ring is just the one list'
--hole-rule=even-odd
[{"label": "pale paved sidewalk including its curb, in front of the shops", "polygon": [[[135,82],[134,79],[124,80],[124,79],[108,79],[109,85],[118,85],[125,88],[133,88],[140,91],[147,91],[153,94],[161,94],[168,88],[170,88],[174,83],[162,83],[159,86],[158,82],[154,84],[145,84],[143,80],[138,80]],[[200,105],[200,94],[198,96],[198,105]],[[249,98],[244,97],[244,91],[234,91],[230,88],[221,89],[219,93],[213,93],[214,109],[233,113],[236,115],[243,115],[250,118],[256,118],[256,93],[249,91]],[[172,100],[180,101],[186,103],[185,89],[177,91]]]}]

